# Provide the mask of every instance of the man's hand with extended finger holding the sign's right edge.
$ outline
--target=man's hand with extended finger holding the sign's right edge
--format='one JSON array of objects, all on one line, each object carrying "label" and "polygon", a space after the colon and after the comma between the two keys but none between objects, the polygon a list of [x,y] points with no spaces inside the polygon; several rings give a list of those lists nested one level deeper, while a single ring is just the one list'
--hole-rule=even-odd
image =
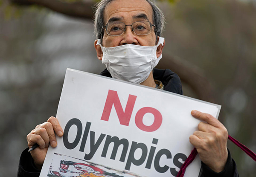
[{"label": "man's hand with extended finger holding the sign's right edge", "polygon": [[198,124],[198,131],[189,136],[189,141],[198,151],[199,157],[209,168],[221,172],[227,162],[227,129],[210,114],[192,110],[192,116],[204,121]]}]

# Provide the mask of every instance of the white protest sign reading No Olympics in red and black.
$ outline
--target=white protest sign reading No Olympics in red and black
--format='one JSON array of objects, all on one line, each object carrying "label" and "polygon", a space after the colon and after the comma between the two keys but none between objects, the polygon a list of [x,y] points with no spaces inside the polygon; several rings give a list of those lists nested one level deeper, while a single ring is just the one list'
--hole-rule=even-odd
[{"label": "white protest sign reading No Olympics in red and black", "polygon": [[[218,117],[220,106],[67,69],[56,116],[64,136],[40,177],[175,177],[200,122],[191,110]],[[197,157],[185,177],[200,168]]]}]

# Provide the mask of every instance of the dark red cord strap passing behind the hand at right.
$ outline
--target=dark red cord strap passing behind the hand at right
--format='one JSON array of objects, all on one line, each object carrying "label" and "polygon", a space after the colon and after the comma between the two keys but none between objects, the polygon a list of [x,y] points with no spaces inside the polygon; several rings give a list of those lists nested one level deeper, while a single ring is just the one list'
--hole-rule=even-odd
[{"label": "dark red cord strap passing behind the hand at right", "polygon": [[[254,161],[256,161],[256,154],[251,151],[249,148],[247,148],[245,145],[241,144],[241,142],[237,141],[235,138],[233,138],[232,136],[228,136],[228,139],[230,141],[232,141],[235,145],[237,145],[239,148],[241,148],[241,150],[243,150],[248,156],[250,156]],[[189,164],[191,162],[193,162],[193,160],[195,159],[195,156],[198,154],[198,152],[196,151],[196,148],[194,148],[189,157],[186,159],[186,161],[183,163],[183,165],[180,168],[179,173],[177,174],[176,177],[183,177],[186,171],[187,166],[189,166]]]}]

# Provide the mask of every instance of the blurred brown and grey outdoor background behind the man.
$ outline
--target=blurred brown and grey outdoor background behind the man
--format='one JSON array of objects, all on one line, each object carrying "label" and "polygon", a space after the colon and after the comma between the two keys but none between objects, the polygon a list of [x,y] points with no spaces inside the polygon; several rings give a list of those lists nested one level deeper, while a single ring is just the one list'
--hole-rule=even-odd
[{"label": "blurred brown and grey outdoor background behind the man", "polygon": [[[67,67],[105,68],[93,47],[95,2],[73,1],[0,0],[0,177],[16,176],[26,135],[55,116]],[[184,95],[222,105],[229,134],[256,152],[256,0],[157,4],[167,22],[157,67],[178,73]],[[228,148],[240,176],[255,177],[256,162]]]}]

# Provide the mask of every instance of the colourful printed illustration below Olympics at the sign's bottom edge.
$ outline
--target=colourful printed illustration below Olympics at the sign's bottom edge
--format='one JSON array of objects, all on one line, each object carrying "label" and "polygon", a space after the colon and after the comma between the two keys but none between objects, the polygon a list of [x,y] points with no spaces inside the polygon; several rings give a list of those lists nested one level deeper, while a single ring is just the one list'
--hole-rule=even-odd
[{"label": "colourful printed illustration below Olympics at the sign's bottom edge", "polygon": [[54,153],[48,177],[139,177],[128,171],[118,171],[103,165]]}]

